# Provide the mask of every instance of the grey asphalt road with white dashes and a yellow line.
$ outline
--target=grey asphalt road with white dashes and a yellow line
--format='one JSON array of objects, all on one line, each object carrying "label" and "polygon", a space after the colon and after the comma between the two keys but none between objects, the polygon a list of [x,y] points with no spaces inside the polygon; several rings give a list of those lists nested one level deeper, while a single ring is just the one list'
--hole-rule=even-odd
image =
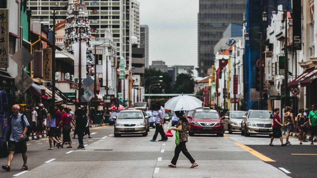
[{"label": "grey asphalt road with white dashes and a yellow line", "polygon": [[[169,124],[165,124],[165,131]],[[48,139],[28,142],[27,172],[20,171],[23,160],[15,154],[11,171],[0,171],[1,177],[299,177],[316,175],[308,165],[315,162],[315,156],[291,155],[291,153],[316,154],[316,147],[297,140],[290,140],[291,146],[281,147],[275,140],[274,147],[268,145],[269,138],[263,136],[244,137],[239,133],[195,135],[189,137],[187,149],[199,166],[190,169],[191,163],[181,153],[177,168],[167,167],[174,155],[175,137],[167,142],[150,142],[155,129],[147,137],[113,137],[113,126],[91,129],[93,139],[84,139],[86,149],[76,150],[78,140],[73,140],[72,149],[46,150]],[[173,132],[173,131],[172,131]],[[87,136],[85,136],[87,137]],[[157,140],[160,139],[160,136]],[[285,139],[284,139],[285,140]],[[294,144],[293,144],[294,143]],[[304,149],[300,149],[302,147]],[[253,150],[253,151],[252,151]],[[256,152],[257,151],[257,152]],[[263,161],[268,159],[271,161]],[[301,161],[298,161],[301,159]],[[311,161],[310,161],[311,160]],[[275,162],[273,162],[275,161]],[[285,163],[288,161],[288,163]],[[45,163],[46,162],[46,163]],[[0,158],[6,165],[7,158]],[[304,164],[304,167],[299,167]],[[284,168],[291,173],[285,173]],[[22,173],[22,174],[21,174]],[[301,176],[302,177],[302,176]]]}]

